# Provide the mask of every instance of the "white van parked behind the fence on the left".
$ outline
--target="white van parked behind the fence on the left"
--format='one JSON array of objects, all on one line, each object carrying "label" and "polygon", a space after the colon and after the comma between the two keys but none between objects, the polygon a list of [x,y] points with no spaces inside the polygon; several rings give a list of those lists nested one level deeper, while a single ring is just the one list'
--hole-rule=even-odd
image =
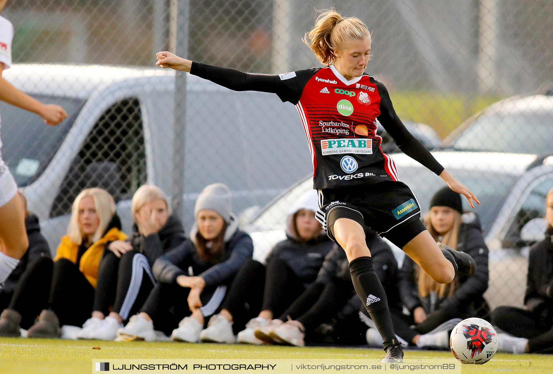
[{"label": "white van parked behind the fence on the left", "polygon": [[[171,194],[175,71],[24,64],[3,77],[69,113],[49,127],[35,114],[0,103],[3,158],[53,251],[83,188],[113,194],[127,233],[130,199],[140,185],[153,183]],[[197,194],[210,183],[229,186],[239,213],[264,206],[310,171],[298,113],[274,94],[232,92],[188,75],[185,110],[187,228]]]}]

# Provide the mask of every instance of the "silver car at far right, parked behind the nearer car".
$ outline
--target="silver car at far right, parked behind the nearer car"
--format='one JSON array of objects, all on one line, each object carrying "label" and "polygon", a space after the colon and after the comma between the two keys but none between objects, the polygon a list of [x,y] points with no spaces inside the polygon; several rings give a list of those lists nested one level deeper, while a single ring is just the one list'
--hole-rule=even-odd
[{"label": "silver car at far right, parked behind the nearer car", "polygon": [[553,91],[499,101],[461,124],[440,149],[542,154],[553,150]]}]

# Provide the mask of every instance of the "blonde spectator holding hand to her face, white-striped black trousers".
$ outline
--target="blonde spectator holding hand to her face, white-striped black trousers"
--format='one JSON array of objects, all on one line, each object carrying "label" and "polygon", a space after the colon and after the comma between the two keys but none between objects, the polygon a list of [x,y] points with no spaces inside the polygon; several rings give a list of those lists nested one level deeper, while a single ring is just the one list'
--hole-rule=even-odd
[{"label": "blonde spectator holding hand to her face, white-striped black trousers", "polygon": [[123,321],[138,312],[154,288],[151,268],[155,260],[186,239],[182,223],[171,215],[168,199],[159,187],[138,188],[131,210],[132,237],[107,244],[98,271],[92,317],[77,334],[79,339],[115,339]]}]

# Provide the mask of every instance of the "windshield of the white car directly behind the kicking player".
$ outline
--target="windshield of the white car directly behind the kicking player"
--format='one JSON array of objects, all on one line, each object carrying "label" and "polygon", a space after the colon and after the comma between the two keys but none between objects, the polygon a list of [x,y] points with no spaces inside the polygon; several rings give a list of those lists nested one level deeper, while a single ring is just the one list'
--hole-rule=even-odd
[{"label": "windshield of the white car directly behind the kicking player", "polygon": [[[484,235],[491,228],[492,223],[502,207],[507,194],[514,186],[518,176],[486,172],[486,178],[482,174],[474,173],[469,170],[456,170],[448,168],[453,176],[466,185],[478,197],[481,202],[472,209],[467,200],[463,197],[463,209],[474,211],[482,223]],[[437,189],[444,186],[444,181],[433,172],[423,166],[400,167],[399,176],[401,181],[406,183],[415,193],[421,204],[422,212],[428,212],[430,198]],[[263,210],[256,219],[253,220],[252,229],[255,230],[275,230],[284,228],[286,214],[291,206],[294,205],[302,193],[312,188],[311,178],[301,182],[298,186],[286,192],[279,199],[270,204]]]}]

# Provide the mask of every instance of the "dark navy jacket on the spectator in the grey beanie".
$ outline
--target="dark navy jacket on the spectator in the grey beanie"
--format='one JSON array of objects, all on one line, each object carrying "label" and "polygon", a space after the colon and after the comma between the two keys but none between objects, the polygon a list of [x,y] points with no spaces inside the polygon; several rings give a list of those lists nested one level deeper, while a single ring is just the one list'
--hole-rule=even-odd
[{"label": "dark navy jacket on the spectator in the grey beanie", "polygon": [[197,225],[192,227],[190,238],[173,250],[159,257],[152,272],[159,282],[175,283],[180,275],[200,276],[206,282],[205,287],[227,285],[232,281],[239,268],[253,255],[252,238],[238,230],[238,220],[231,215],[225,231],[225,247],[221,256],[211,261],[200,259],[196,251]]}]

